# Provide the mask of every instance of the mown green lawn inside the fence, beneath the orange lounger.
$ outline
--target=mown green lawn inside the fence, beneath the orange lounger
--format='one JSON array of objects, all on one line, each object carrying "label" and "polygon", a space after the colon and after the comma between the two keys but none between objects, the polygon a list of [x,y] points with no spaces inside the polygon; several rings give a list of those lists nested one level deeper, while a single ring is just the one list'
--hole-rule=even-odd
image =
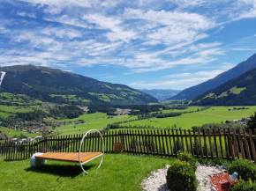
[{"label": "mown green lawn inside the fence, beneath the orange lounger", "polygon": [[0,190],[136,191],[141,190],[141,181],[151,171],[171,161],[171,158],[106,154],[100,169],[96,170],[100,158],[84,165],[88,174],[83,177],[79,164],[47,161],[46,165],[33,169],[29,159],[0,160]]}]

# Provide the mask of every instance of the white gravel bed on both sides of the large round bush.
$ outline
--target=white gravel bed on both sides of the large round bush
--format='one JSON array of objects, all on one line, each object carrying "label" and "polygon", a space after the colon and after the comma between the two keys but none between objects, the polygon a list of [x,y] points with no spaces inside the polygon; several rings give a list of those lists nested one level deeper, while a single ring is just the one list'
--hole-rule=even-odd
[{"label": "white gravel bed on both sides of the large round bush", "polygon": [[[158,169],[150,173],[150,176],[141,183],[142,189],[147,191],[169,191],[166,186],[166,174],[169,165],[165,165],[163,169]],[[210,178],[215,174],[226,172],[226,166],[220,165],[198,165],[196,171],[197,180],[199,180],[198,191],[215,191],[210,183]]]}]

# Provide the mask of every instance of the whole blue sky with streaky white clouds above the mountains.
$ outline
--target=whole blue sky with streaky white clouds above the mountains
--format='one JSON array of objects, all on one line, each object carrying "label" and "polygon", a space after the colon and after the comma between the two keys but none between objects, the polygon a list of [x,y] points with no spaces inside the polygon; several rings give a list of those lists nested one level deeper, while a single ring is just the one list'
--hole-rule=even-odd
[{"label": "whole blue sky with streaky white clouds above the mountains", "polygon": [[0,0],[0,65],[133,88],[200,84],[256,53],[256,0]]}]

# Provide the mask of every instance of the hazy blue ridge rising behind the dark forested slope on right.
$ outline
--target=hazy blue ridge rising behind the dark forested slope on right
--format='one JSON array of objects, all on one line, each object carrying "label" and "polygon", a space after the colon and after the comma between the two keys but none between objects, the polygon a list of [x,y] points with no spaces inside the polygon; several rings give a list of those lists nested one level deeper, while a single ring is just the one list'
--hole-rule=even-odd
[{"label": "hazy blue ridge rising behind the dark forested slope on right", "polygon": [[195,99],[200,96],[200,94],[207,92],[208,90],[214,89],[215,87],[223,84],[234,77],[238,77],[244,74],[246,71],[251,70],[256,67],[256,54],[252,55],[244,62],[240,62],[234,68],[219,74],[217,77],[207,80],[201,84],[192,86],[190,88],[184,89],[184,91],[179,92],[176,96],[170,99]]}]

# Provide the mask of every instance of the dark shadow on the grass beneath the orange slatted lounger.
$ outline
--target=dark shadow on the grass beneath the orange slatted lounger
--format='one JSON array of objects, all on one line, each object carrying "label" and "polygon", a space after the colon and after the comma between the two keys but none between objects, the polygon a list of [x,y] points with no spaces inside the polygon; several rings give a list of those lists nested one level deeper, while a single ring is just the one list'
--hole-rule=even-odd
[{"label": "dark shadow on the grass beneath the orange slatted lounger", "polygon": [[[83,165],[84,169],[87,171],[94,165]],[[71,177],[72,179],[78,175],[83,174],[82,169],[79,165],[42,165],[39,167],[28,167],[24,169],[26,172],[36,172],[36,173],[49,173],[58,175],[60,177]]]}]

